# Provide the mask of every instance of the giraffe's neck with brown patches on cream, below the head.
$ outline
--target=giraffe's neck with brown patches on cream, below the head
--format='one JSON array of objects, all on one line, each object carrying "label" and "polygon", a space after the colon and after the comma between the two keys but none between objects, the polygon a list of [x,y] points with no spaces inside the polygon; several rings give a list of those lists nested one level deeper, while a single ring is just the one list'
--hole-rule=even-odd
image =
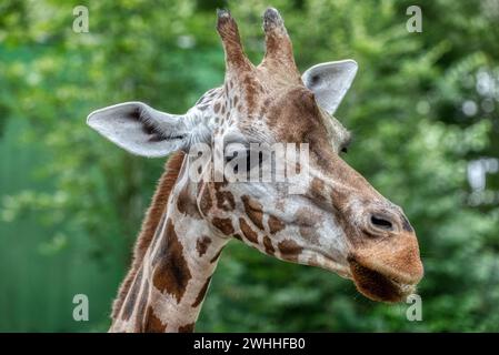
[{"label": "giraffe's neck with brown patches on cream, below the head", "polygon": [[187,159],[110,332],[192,332],[227,239],[212,233]]}]

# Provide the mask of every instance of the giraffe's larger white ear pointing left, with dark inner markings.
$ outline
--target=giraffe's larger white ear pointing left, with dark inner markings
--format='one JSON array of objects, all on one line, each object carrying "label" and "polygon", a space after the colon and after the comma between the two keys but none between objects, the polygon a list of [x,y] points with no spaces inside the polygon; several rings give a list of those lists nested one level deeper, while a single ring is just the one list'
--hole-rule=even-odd
[{"label": "giraffe's larger white ear pointing left, with dark inner markings", "polygon": [[93,111],[87,124],[128,152],[166,156],[189,143],[182,115],[164,113],[142,102],[124,102]]}]

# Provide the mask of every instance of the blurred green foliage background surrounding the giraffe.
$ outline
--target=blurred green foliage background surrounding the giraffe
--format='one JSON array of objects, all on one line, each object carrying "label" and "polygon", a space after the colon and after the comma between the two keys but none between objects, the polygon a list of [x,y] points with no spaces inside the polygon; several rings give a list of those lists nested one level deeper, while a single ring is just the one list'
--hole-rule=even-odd
[{"label": "blurred green foliage background surrounding the giraffe", "polygon": [[[422,321],[236,241],[197,331],[499,331],[499,0],[2,0],[0,331],[107,331],[164,160],[123,152],[86,116],[131,100],[183,113],[223,80],[216,8],[258,63],[269,4],[300,70],[359,63],[336,114],[355,134],[345,159],[418,232]],[[420,33],[406,29],[412,4]],[[73,31],[77,6],[88,33]],[[72,318],[76,294],[88,322]]]}]

